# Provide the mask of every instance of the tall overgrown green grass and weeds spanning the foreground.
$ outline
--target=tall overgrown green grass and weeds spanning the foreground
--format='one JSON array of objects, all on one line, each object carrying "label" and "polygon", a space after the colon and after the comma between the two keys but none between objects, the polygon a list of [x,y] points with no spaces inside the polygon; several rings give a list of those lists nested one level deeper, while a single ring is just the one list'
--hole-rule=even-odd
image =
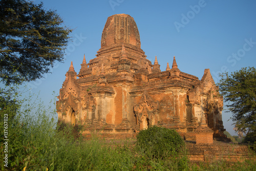
[{"label": "tall overgrown green grass and weeds spanning the foreground", "polygon": [[[56,124],[56,112],[41,102],[0,101],[1,129],[8,114],[8,168],[2,170],[255,170],[254,161],[243,163],[191,163],[185,153],[154,158],[135,143],[109,143],[94,137],[84,140],[74,127]],[[10,99],[9,99],[10,101]],[[37,104],[37,105],[34,105]],[[3,137],[1,132],[1,137]],[[3,139],[1,139],[3,141]],[[1,143],[1,156],[4,145]]]}]

